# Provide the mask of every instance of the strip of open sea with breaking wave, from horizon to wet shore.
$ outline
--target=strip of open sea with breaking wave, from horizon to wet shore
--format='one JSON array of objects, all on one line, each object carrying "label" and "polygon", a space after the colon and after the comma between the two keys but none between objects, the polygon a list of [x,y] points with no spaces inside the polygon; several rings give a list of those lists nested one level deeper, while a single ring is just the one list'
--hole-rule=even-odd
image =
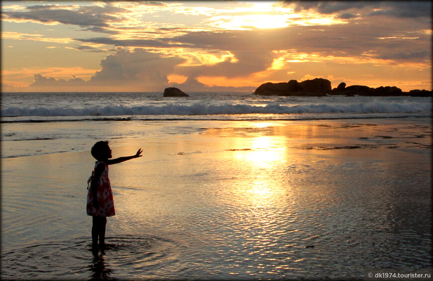
[{"label": "strip of open sea with breaking wave, from horizon to wet shore", "polygon": [[3,122],[55,117],[95,120],[98,116],[131,120],[390,118],[432,112],[432,98],[418,97],[266,97],[210,92],[190,93],[187,98],[163,98],[162,93],[2,93],[1,98]]}]

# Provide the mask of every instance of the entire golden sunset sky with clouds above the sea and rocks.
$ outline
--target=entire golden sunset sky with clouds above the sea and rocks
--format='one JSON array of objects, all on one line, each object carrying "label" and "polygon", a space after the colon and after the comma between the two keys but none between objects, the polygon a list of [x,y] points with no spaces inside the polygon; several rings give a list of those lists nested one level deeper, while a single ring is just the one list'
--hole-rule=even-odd
[{"label": "entire golden sunset sky with clouds above the sea and rocks", "polygon": [[432,90],[431,1],[1,1],[2,92]]}]

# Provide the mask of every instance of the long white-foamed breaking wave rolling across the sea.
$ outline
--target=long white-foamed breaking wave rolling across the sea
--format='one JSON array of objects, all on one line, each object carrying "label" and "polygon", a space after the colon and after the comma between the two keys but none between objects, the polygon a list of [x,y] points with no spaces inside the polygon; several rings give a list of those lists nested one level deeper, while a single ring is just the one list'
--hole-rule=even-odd
[{"label": "long white-foamed breaking wave rolling across the sea", "polygon": [[303,114],[303,113],[405,113],[431,112],[432,104],[420,102],[369,102],[350,105],[309,104],[265,106],[246,104],[192,105],[168,104],[163,106],[106,106],[84,109],[71,108],[17,108],[1,110],[2,117],[20,116],[131,116],[131,115],[217,115],[217,114]]}]

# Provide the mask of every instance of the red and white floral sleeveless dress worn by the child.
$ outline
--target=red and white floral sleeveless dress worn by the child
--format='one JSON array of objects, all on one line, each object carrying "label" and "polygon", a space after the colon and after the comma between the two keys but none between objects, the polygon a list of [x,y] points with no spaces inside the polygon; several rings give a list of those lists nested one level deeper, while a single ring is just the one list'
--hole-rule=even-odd
[{"label": "red and white floral sleeveless dress worn by the child", "polygon": [[89,188],[89,192],[87,193],[87,214],[89,216],[101,216],[101,217],[110,217],[114,216],[114,202],[113,202],[113,193],[111,191],[110,181],[108,179],[108,165],[102,161],[96,161],[95,169],[92,173],[92,176],[89,178],[91,182],[93,179],[93,174],[96,171],[96,167],[100,164],[104,164],[105,169],[102,172],[97,186],[97,197],[98,197],[98,208],[93,206],[93,186],[91,185]]}]

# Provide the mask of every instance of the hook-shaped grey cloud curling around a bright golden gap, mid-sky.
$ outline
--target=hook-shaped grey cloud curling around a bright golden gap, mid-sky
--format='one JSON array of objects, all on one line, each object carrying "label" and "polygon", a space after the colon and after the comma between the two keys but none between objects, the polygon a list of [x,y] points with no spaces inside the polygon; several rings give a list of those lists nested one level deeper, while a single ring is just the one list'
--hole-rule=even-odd
[{"label": "hook-shaped grey cloud curling around a bright golden gap, mid-sky", "polygon": [[[149,47],[149,48],[191,48],[202,49],[207,52],[228,51],[234,57],[213,65],[197,65],[178,68],[179,74],[186,76],[209,75],[219,76],[223,73],[226,77],[238,77],[263,71],[272,63],[275,55],[272,54],[273,45],[269,45],[265,33],[242,31],[196,31],[187,32],[184,35],[157,40],[116,40],[112,38],[88,38],[77,39],[90,43],[105,43],[124,47]],[[194,57],[194,51],[189,55]],[[236,62],[234,62],[235,60]],[[199,63],[200,64],[200,63]]]}]

